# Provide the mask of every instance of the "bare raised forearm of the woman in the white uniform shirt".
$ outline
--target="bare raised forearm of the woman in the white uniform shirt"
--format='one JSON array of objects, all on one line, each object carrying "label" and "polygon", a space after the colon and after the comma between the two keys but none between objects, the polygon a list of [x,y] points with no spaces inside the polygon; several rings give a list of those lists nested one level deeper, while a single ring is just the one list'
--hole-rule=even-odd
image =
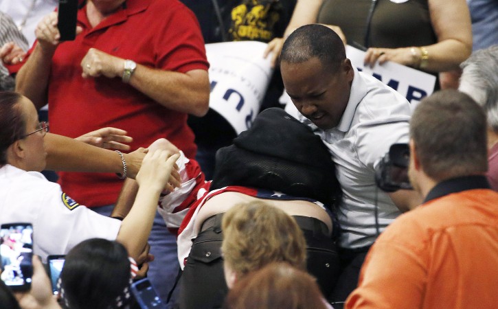
[{"label": "bare raised forearm of the woman in the white uniform shirt", "polygon": [[160,189],[139,187],[135,203],[121,224],[116,240],[121,242],[135,260],[144,251],[157,211]]}]

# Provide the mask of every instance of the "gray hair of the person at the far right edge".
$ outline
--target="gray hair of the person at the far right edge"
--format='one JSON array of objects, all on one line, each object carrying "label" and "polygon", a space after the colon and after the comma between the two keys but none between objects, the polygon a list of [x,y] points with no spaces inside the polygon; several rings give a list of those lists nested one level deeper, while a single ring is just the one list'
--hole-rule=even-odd
[{"label": "gray hair of the person at the far right edge", "polygon": [[473,52],[460,67],[459,90],[484,108],[488,126],[498,133],[498,45]]}]

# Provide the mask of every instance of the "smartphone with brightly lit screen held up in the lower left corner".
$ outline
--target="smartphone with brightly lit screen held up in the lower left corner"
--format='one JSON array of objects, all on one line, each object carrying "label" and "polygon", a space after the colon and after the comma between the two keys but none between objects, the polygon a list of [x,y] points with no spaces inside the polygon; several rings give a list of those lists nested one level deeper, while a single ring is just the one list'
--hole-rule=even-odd
[{"label": "smartphone with brightly lit screen held up in the lower left corner", "polygon": [[10,223],[0,227],[1,279],[11,290],[29,290],[33,275],[33,227]]}]

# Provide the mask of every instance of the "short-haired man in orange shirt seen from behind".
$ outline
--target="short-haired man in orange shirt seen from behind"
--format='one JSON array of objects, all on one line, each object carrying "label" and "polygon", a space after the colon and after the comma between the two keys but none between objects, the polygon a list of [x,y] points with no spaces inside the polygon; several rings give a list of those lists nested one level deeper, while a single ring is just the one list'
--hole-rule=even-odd
[{"label": "short-haired man in orange shirt seen from behind", "polygon": [[498,193],[486,180],[486,116],[458,91],[422,100],[410,122],[411,184],[424,203],[365,259],[346,308],[496,308]]}]

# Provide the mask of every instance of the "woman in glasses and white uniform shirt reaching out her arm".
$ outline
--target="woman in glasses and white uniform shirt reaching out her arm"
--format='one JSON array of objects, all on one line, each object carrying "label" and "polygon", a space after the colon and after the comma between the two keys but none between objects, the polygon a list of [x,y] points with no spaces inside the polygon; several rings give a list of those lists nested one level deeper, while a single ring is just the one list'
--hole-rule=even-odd
[{"label": "woman in glasses and white uniform shirt reaching out her arm", "polygon": [[[44,137],[34,104],[18,93],[0,93],[0,223],[31,222],[34,253],[45,260],[64,254],[88,238],[106,238],[124,244],[139,261],[174,161],[164,150],[146,155],[137,174],[139,192],[124,220],[100,216],[73,201],[56,183],[39,173],[45,168]],[[139,205],[139,208],[135,205]]]}]

